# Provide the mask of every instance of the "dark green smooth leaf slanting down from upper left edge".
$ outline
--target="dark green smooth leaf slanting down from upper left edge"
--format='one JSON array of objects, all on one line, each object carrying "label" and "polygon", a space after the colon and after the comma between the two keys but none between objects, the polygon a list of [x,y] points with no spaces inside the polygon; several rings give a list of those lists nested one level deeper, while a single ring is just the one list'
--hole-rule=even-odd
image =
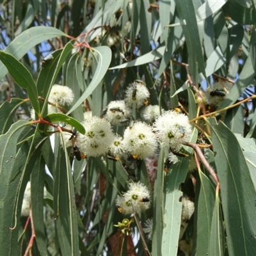
[{"label": "dark green smooth leaf slanting down from upper left edge", "polygon": [[33,108],[36,113],[40,113],[36,84],[28,69],[11,54],[4,51],[0,51],[0,60],[3,61],[15,83],[28,91],[28,96]]}]

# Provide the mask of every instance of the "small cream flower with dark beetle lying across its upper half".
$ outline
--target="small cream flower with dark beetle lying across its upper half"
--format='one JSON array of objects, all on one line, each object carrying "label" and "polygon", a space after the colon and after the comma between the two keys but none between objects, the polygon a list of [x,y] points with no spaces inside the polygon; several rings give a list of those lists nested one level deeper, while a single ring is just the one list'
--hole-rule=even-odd
[{"label": "small cream flower with dark beetle lying across its upper half", "polygon": [[131,114],[130,109],[128,109],[125,105],[124,100],[115,100],[109,102],[107,109],[106,118],[113,125],[120,125],[120,121],[126,119]]}]

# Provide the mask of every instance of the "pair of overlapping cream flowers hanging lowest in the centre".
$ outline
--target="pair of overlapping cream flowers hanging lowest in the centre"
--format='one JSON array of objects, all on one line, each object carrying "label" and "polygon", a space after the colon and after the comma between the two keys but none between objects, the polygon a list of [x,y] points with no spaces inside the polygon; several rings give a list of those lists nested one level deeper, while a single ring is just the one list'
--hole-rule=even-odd
[{"label": "pair of overlapping cream flowers hanging lowest in the centre", "polygon": [[129,189],[116,197],[116,206],[123,214],[144,212],[150,207],[150,193],[141,182],[129,183]]}]

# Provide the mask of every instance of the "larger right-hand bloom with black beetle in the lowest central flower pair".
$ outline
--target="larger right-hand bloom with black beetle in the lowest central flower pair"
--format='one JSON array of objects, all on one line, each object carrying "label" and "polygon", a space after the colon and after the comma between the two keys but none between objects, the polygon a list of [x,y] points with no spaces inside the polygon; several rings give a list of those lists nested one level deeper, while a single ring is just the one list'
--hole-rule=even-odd
[{"label": "larger right-hand bloom with black beetle in the lowest central flower pair", "polygon": [[141,184],[129,183],[129,189],[124,193],[125,202],[130,202],[134,212],[143,212],[150,207],[150,193],[148,188]]}]

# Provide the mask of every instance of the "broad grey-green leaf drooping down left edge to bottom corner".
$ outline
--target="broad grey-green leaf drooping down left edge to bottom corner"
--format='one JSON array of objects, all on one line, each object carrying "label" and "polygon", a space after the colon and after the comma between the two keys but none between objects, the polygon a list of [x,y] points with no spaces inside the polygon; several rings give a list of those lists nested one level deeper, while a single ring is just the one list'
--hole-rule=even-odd
[{"label": "broad grey-green leaf drooping down left edge to bottom corner", "polygon": [[[19,136],[26,125],[28,125],[27,121],[20,120],[13,124],[6,134],[0,136],[0,243],[1,253],[4,255],[16,255],[13,252],[17,248],[17,231],[12,233],[10,227],[13,227],[12,212],[15,208],[17,188],[14,189],[12,184],[16,184],[16,186],[19,184],[21,172],[15,166],[16,148]],[[22,166],[22,161],[19,166]],[[14,167],[16,168],[14,169]],[[13,191],[10,191],[10,186]],[[12,200],[10,201],[10,199]],[[15,237],[16,240],[13,241]]]}]

